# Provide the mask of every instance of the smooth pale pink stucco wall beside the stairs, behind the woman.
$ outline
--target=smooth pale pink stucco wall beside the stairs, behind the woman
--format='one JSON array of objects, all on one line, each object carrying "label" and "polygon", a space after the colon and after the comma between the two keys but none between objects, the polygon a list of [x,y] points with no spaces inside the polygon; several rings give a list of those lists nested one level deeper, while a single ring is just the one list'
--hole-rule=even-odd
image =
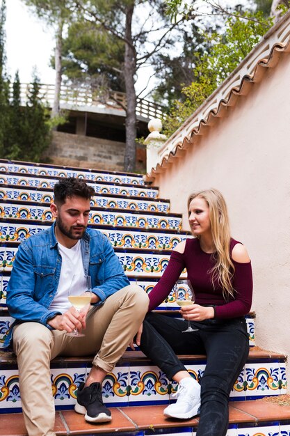
[{"label": "smooth pale pink stucco wall beside the stairs, behind the woman", "polygon": [[186,229],[188,194],[223,192],[232,236],[252,259],[256,343],[290,356],[290,54],[228,109],[154,185],[172,212],[184,213]]}]

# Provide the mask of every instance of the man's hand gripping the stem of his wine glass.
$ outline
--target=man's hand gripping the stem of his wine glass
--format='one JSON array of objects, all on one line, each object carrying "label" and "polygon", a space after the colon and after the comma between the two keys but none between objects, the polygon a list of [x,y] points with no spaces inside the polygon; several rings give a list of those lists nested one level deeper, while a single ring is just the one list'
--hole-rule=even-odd
[{"label": "man's hand gripping the stem of his wine glass", "polygon": [[65,330],[67,333],[71,333],[74,329],[82,330],[86,328],[86,315],[90,306],[83,309],[81,312],[76,311],[74,307],[70,307],[68,311],[63,315],[56,315],[51,320],[47,321],[47,324],[56,330],[61,332]]}]

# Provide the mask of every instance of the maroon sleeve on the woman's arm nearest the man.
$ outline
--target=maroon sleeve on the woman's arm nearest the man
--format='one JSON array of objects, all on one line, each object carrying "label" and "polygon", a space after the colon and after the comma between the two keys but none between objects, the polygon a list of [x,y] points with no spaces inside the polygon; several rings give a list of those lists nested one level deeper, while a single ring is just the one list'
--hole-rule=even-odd
[{"label": "maroon sleeve on the woman's arm nearest the man", "polygon": [[183,254],[176,250],[172,251],[166,270],[163,272],[161,279],[149,294],[149,312],[159,306],[159,304],[168,297],[175,282],[179,279],[180,274],[182,274],[184,267]]}]

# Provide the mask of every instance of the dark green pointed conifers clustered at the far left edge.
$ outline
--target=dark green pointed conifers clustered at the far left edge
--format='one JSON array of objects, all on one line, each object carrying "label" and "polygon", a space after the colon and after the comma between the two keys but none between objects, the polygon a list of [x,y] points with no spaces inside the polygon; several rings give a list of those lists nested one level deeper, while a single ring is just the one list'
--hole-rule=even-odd
[{"label": "dark green pointed conifers clustered at the far left edge", "polygon": [[[0,155],[6,159],[39,162],[49,145],[49,112],[39,96],[39,79],[34,75],[28,102],[21,102],[18,72],[13,84],[6,75],[6,3],[0,8]],[[12,91],[12,92],[11,92]]]}]

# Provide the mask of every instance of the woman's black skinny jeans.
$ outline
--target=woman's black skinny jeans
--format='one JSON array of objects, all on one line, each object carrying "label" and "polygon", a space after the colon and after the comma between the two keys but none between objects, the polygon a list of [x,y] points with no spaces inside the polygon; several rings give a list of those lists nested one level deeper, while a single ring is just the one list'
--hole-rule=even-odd
[{"label": "woman's black skinny jeans", "polygon": [[198,332],[182,333],[184,320],[148,313],[140,349],[172,378],[186,371],[176,354],[206,354],[201,385],[200,422],[196,436],[225,436],[229,394],[247,361],[249,339],[245,318],[191,322]]}]

